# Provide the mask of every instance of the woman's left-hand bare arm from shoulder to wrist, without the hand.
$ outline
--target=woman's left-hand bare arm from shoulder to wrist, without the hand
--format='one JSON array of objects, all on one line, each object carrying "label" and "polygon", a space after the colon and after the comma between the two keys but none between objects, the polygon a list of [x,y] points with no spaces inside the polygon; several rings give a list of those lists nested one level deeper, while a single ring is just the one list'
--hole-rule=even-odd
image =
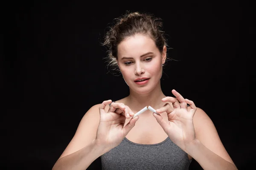
[{"label": "woman's left-hand bare arm from shoulder to wrist, without the hand", "polygon": [[81,119],[76,134],[52,170],[85,170],[99,156],[104,147],[94,140],[99,126],[99,105],[91,107]]}]

